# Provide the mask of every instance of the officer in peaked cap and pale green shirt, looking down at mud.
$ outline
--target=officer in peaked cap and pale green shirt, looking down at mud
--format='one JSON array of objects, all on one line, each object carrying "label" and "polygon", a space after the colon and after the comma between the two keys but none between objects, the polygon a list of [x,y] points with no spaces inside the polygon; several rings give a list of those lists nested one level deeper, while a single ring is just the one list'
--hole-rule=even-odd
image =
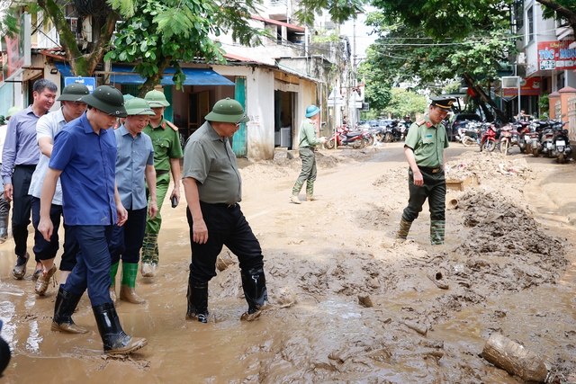
[{"label": "officer in peaked cap and pale green shirt, looking down at mud", "polygon": [[446,231],[446,178],[444,174],[448,135],[441,122],[452,111],[455,99],[432,98],[428,115],[410,126],[404,142],[404,155],[408,160],[410,199],[402,212],[396,237],[406,240],[410,227],[418,219],[424,201],[430,207],[430,243],[444,244]]}]

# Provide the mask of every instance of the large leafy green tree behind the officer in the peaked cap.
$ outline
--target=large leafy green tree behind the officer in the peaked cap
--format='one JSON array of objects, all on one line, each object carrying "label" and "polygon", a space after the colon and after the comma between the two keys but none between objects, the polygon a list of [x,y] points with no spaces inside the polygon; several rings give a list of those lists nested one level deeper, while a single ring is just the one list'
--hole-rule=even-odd
[{"label": "large leafy green tree behind the officer in the peaked cap", "polygon": [[480,85],[497,76],[500,62],[515,49],[506,4],[464,0],[449,4],[376,0],[374,4],[383,12],[368,17],[367,22],[380,31],[368,60],[384,77],[395,84],[431,88],[436,94],[448,82],[464,78],[484,113],[491,116],[495,111],[501,117]]}]

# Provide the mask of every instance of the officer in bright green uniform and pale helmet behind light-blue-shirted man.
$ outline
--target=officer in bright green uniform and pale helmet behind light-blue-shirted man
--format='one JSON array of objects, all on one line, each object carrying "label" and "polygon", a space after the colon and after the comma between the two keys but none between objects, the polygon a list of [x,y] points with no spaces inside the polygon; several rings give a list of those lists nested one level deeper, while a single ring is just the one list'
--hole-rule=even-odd
[{"label": "officer in bright green uniform and pale helmet behind light-blue-shirted man", "polygon": [[[180,158],[183,156],[180,146],[178,127],[164,119],[164,110],[170,104],[166,101],[164,93],[153,90],[148,92],[144,99],[149,103],[154,116],[143,132],[152,139],[154,146],[154,168],[156,168],[156,194],[158,212],[156,218],[146,218],[146,233],[142,244],[142,265],[140,272],[144,277],[154,277],[158,264],[158,233],[162,224],[160,210],[166,197],[170,184],[170,173],[174,179],[174,189],[170,193],[170,200],[176,198],[180,201]],[[148,201],[149,203],[149,201]]]}]

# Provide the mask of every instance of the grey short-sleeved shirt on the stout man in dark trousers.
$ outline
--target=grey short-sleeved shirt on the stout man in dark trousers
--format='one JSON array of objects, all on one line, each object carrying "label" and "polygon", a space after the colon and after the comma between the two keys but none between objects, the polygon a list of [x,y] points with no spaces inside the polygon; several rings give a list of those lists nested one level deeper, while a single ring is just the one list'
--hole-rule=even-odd
[{"label": "grey short-sleeved shirt on the stout man in dark trousers", "polygon": [[183,179],[186,177],[198,182],[200,201],[234,204],[242,200],[242,179],[236,155],[229,139],[220,138],[209,121],[188,138],[182,174]]}]

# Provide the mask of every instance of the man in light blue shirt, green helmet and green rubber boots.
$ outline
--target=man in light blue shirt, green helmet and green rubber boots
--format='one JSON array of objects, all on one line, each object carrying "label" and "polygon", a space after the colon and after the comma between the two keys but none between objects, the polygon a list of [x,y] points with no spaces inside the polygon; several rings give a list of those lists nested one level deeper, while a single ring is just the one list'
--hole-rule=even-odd
[{"label": "man in light blue shirt, green helmet and green rubber boots", "polygon": [[[124,98],[126,100],[126,98]],[[158,207],[156,202],[156,171],[154,170],[154,147],[152,141],[142,129],[148,125],[148,119],[154,115],[148,102],[140,98],[131,98],[124,104],[126,119],[119,129],[114,130],[116,136],[116,183],[122,205],[128,211],[128,219],[123,226],[114,225],[110,255],[110,297],[116,299],[116,272],[122,261],[120,299],[133,304],[143,304],[135,291],[136,275],[140,259],[140,248],[146,228],[146,215],[156,217]],[[146,201],[146,186],[150,202]]]}]

